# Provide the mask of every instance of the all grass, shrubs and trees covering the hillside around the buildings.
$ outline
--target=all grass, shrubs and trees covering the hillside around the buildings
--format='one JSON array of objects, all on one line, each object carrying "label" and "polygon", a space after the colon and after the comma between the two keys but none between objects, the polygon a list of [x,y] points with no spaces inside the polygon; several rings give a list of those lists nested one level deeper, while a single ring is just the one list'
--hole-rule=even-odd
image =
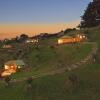
[{"label": "all grass, shrubs and trees covering the hillside around the buildings", "polygon": [[[93,0],[88,5],[80,27],[98,26],[100,23],[96,19],[100,19],[99,0]],[[65,34],[70,36],[76,32],[80,31],[65,30]],[[18,58],[17,54],[20,56],[23,53],[20,58],[28,64],[28,68],[0,81],[0,100],[100,100],[100,29],[87,28],[81,32],[88,36],[90,42],[97,44],[97,54],[79,68],[58,74],[52,74],[52,71],[80,62],[91,52],[91,44],[86,42],[58,46],[57,34],[49,39],[48,34],[42,34],[43,38],[36,45],[22,43],[28,38],[25,34],[20,36],[21,41],[18,41],[18,37],[6,41],[6,44],[11,43],[15,48],[10,51],[0,49],[0,67],[7,60]],[[18,81],[12,82],[11,78]]]}]

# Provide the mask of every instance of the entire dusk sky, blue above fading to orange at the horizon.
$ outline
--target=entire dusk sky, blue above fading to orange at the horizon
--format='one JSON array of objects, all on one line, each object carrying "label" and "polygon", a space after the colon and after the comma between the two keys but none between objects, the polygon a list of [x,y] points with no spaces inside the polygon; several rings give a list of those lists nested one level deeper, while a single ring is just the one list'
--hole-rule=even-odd
[{"label": "entire dusk sky, blue above fading to orange at the horizon", "polygon": [[0,0],[0,39],[76,27],[90,1]]}]

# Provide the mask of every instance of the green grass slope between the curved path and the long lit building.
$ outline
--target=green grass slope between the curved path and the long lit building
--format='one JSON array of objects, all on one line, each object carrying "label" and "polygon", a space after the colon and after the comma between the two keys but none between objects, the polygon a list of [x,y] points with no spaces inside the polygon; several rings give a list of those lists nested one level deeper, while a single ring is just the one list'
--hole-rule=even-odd
[{"label": "green grass slope between the curved path and the long lit building", "polygon": [[61,45],[55,48],[41,47],[39,50],[33,49],[33,52],[29,55],[30,70],[17,72],[12,75],[12,78],[41,76],[44,73],[72,65],[84,59],[91,48],[91,44],[75,44]]}]

